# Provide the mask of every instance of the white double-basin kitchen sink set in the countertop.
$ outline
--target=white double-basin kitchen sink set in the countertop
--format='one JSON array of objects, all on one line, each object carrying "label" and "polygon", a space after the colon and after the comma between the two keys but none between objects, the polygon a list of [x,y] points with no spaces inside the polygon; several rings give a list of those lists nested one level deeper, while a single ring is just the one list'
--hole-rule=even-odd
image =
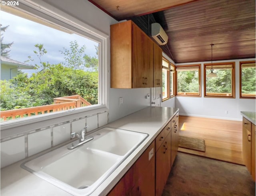
[{"label": "white double-basin kitchen sink set in the countertop", "polygon": [[21,167],[73,195],[90,195],[146,139],[148,134],[102,128],[94,139],[68,150],[62,146]]}]

